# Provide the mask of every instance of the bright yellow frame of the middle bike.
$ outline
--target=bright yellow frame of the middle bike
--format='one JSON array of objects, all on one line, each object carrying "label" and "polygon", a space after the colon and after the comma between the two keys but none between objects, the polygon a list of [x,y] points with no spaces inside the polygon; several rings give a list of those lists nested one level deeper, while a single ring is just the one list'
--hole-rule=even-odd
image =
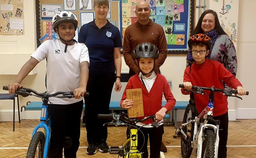
[{"label": "bright yellow frame of the middle bike", "polygon": [[130,151],[123,151],[124,154],[126,154],[125,158],[142,158],[142,154],[138,152],[137,146],[138,146],[138,135],[137,131],[138,129],[131,129],[131,137],[127,139],[123,144],[123,149],[125,149],[125,145],[127,145],[130,142]]}]

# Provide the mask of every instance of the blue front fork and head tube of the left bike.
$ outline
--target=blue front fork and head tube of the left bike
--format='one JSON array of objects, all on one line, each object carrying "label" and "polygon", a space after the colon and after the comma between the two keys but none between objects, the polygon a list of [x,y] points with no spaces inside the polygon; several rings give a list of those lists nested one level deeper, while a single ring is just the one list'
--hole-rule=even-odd
[{"label": "blue front fork and head tube of the left bike", "polygon": [[[36,126],[36,128],[34,129],[33,131],[33,134],[32,134],[32,138],[34,136],[34,134],[37,132],[37,130],[39,128],[44,128],[45,131],[46,131],[46,136],[45,136],[45,143],[44,143],[44,155],[43,155],[43,158],[46,158],[47,157],[47,153],[48,153],[48,147],[49,147],[49,142],[50,142],[50,133],[51,133],[51,121],[50,121],[50,118],[49,118],[49,115],[48,115],[48,109],[47,109],[48,105],[46,103],[43,103],[43,106],[42,106],[42,111],[41,111],[41,118],[40,118],[40,124],[38,124]],[[48,121],[48,125],[46,123],[46,121]]]}]

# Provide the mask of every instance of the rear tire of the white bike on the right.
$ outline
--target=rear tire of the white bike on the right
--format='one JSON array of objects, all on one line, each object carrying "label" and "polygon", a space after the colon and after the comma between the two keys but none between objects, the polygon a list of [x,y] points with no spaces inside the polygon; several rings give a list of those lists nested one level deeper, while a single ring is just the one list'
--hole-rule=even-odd
[{"label": "rear tire of the white bike on the right", "polygon": [[[196,107],[194,105],[188,104],[183,116],[183,123],[187,123],[189,118],[194,119],[196,116]],[[191,127],[188,128],[188,126],[184,126],[182,130],[189,135],[190,140],[193,141],[193,135],[194,135],[194,126],[195,123],[191,123]],[[190,158],[191,153],[193,151],[193,148],[191,146],[191,142],[189,144],[186,144],[182,139],[181,139],[181,155],[183,158]]]}]

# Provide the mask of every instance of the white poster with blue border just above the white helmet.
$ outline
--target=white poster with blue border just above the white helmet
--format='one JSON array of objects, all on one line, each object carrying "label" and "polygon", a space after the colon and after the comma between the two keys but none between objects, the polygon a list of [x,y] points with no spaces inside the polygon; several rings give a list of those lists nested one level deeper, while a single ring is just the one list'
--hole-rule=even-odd
[{"label": "white poster with blue border just above the white helmet", "polygon": [[41,4],[41,20],[51,20],[60,11],[62,11],[62,5]]}]

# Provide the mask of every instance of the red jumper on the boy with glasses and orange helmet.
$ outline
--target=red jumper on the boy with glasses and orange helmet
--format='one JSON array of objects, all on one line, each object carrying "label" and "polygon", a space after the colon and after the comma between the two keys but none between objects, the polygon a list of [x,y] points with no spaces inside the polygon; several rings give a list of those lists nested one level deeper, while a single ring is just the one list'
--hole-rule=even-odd
[{"label": "red jumper on the boy with glasses and orange helmet", "polygon": [[[224,89],[222,80],[234,89],[242,86],[238,79],[235,78],[221,63],[214,60],[206,59],[203,64],[192,64],[187,67],[184,72],[183,82],[191,82],[193,86],[212,87]],[[181,89],[182,94],[190,94]],[[209,95],[209,91],[205,91]],[[200,114],[208,104],[209,98],[206,95],[194,93],[195,104],[198,113]],[[228,111],[227,97],[221,93],[216,92],[214,98],[214,112],[213,116],[225,114]]]}]

